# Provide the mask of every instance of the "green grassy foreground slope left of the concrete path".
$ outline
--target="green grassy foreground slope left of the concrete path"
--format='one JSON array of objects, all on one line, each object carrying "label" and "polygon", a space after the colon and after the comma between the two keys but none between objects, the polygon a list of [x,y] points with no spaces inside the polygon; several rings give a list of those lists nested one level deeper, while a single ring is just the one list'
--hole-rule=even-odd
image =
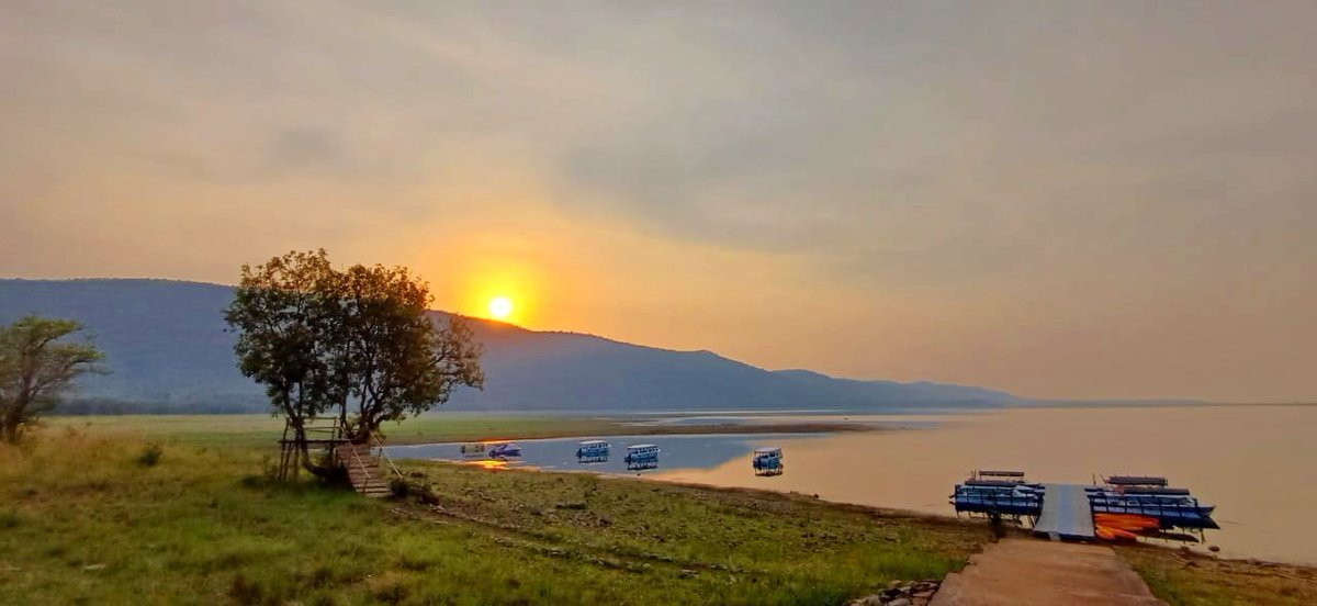
[{"label": "green grassy foreground slope left of the concrete path", "polygon": [[0,603],[842,603],[986,540],[798,495],[406,462],[436,511],[269,482],[274,449],[204,437],[211,419],[0,447]]}]

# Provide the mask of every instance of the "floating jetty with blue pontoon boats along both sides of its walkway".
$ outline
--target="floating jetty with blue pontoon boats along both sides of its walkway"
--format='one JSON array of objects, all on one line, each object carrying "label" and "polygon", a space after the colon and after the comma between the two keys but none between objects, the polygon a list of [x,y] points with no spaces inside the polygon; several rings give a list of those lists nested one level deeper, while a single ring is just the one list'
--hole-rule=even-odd
[{"label": "floating jetty with blue pontoon boats along both sides of its walkway", "polygon": [[[1216,510],[1164,477],[1109,476],[1102,483],[1034,483],[1023,472],[973,472],[951,495],[956,514],[1027,519],[1052,540],[1201,540]],[[1187,532],[1181,532],[1187,531]],[[1197,537],[1193,536],[1197,532]]]}]

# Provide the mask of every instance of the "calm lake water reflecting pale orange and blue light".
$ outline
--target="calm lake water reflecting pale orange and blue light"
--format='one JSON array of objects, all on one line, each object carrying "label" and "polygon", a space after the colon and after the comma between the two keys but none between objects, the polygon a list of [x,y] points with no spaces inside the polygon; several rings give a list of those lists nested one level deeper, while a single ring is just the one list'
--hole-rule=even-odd
[{"label": "calm lake water reflecting pale orange and blue light", "polygon": [[[842,415],[799,415],[832,419]],[[852,415],[852,422],[884,416]],[[774,420],[784,420],[776,416]],[[1025,408],[890,418],[913,429],[809,436],[612,436],[608,464],[576,462],[578,440],[523,440],[525,464],[627,473],[626,445],[662,448],[647,477],[818,494],[830,501],[951,515],[947,495],[976,468],[1034,481],[1167,476],[1216,503],[1209,544],[1231,557],[1317,564],[1317,407]],[[930,423],[932,422],[932,423]],[[781,445],[786,473],[755,477],[749,452]],[[395,447],[395,457],[461,460],[457,445]]]}]

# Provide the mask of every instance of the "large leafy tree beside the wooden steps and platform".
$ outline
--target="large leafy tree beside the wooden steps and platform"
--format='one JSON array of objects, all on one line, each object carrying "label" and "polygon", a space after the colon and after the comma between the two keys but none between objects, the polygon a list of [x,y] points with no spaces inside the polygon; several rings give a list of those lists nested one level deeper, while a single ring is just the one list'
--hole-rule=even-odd
[{"label": "large leafy tree beside the wooden steps and platform", "polygon": [[363,443],[382,423],[448,400],[453,387],[482,387],[481,348],[461,317],[436,324],[429,289],[406,267],[335,270],[324,250],[292,252],[242,266],[225,320],[238,332],[238,368],[265,385],[294,428],[300,465],[307,420],[337,416]]}]

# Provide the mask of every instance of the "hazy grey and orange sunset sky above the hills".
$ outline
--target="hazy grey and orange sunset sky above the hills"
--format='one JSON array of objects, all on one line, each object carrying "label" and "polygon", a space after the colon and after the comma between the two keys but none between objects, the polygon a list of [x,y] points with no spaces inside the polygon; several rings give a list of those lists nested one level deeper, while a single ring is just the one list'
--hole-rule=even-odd
[{"label": "hazy grey and orange sunset sky above the hills", "polygon": [[1317,3],[8,1],[0,275],[1039,398],[1317,400]]}]

